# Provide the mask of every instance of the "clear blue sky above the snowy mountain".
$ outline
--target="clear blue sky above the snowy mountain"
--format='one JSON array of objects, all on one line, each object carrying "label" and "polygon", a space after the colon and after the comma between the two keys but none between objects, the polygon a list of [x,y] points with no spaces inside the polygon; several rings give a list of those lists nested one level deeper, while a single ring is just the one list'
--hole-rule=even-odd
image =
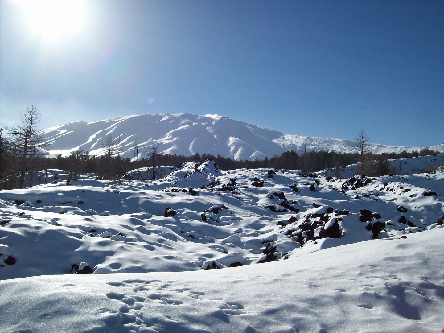
[{"label": "clear blue sky above the snowy mountain", "polygon": [[35,104],[45,128],[217,113],[287,134],[444,143],[444,1],[91,0],[56,38],[18,0],[0,4],[2,124]]}]

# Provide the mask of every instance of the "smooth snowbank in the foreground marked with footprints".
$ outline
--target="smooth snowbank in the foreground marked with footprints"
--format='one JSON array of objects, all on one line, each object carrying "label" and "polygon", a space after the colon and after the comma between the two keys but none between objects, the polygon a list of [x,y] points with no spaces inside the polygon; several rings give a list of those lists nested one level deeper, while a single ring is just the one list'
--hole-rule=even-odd
[{"label": "smooth snowbank in the foreground marked with footprints", "polygon": [[224,270],[0,281],[2,332],[437,333],[444,228]]}]

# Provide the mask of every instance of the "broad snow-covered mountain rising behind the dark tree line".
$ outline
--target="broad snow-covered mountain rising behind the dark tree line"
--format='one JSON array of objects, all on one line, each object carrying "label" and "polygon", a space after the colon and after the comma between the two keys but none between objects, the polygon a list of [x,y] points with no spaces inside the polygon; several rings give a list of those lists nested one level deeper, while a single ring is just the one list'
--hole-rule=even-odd
[{"label": "broad snow-covered mountain rising behind the dark tree line", "polygon": [[[104,154],[106,138],[120,138],[124,158],[133,158],[135,141],[141,147],[155,144],[163,154],[190,156],[196,153],[222,155],[232,159],[262,159],[284,151],[328,150],[352,152],[353,141],[288,135],[266,127],[218,115],[132,115],[86,123],[76,122],[42,131],[51,143],[53,155],[67,155],[80,148],[93,155]],[[116,141],[115,141],[115,144]],[[401,147],[372,143],[375,153],[413,151],[430,148],[444,151],[444,144],[434,147]],[[143,149],[139,150],[142,155]]]}]

